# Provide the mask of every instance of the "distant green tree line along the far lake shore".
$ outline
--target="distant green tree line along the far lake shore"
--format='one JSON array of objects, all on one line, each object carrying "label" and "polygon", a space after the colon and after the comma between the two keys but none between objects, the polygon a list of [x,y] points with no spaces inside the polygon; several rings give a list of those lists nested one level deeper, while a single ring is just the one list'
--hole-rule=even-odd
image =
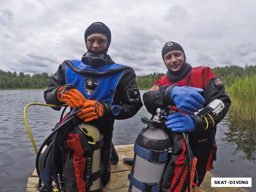
[{"label": "distant green tree line along the far lake shore", "polygon": [[[231,86],[237,78],[245,78],[256,74],[256,65],[245,64],[244,67],[237,65],[230,65],[225,67],[212,68],[213,73],[223,81],[226,87]],[[136,76],[136,82],[140,89],[150,89],[156,80],[164,76],[165,73],[153,73],[144,76]],[[0,69],[0,89],[46,89],[48,88],[49,81],[52,75],[48,73],[39,73],[30,76],[20,72],[19,75],[16,71],[13,73],[5,72]]]}]

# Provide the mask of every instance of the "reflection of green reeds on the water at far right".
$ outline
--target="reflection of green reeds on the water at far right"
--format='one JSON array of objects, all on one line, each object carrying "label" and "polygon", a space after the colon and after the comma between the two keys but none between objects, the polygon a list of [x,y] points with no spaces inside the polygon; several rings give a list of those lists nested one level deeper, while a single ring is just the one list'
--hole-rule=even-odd
[{"label": "reflection of green reeds on the water at far right", "polygon": [[231,149],[229,155],[238,155],[239,160],[256,163],[256,125],[255,122],[232,119],[227,116],[228,130],[223,141]]}]

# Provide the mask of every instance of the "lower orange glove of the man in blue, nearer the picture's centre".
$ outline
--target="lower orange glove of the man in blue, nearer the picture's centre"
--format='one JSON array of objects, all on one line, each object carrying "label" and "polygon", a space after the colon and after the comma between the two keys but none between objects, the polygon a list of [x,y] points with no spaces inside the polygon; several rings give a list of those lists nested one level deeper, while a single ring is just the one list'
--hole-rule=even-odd
[{"label": "lower orange glove of the man in blue, nearer the picture's centre", "polygon": [[82,111],[76,114],[76,116],[78,116],[80,119],[84,119],[85,122],[102,117],[102,115],[102,104],[94,100],[86,100],[84,102],[84,106],[82,107]]}]

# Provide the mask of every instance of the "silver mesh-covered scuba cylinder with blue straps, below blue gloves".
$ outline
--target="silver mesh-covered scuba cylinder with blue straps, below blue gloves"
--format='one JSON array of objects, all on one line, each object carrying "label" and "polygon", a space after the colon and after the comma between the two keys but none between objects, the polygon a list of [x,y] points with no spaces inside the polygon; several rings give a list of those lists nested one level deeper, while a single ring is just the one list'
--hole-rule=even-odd
[{"label": "silver mesh-covered scuba cylinder with blue straps, below blue gloves", "polygon": [[172,151],[170,138],[164,130],[167,111],[157,109],[156,118],[151,121],[142,118],[149,126],[142,129],[134,143],[134,159],[129,192],[157,192],[167,164],[168,154]]}]

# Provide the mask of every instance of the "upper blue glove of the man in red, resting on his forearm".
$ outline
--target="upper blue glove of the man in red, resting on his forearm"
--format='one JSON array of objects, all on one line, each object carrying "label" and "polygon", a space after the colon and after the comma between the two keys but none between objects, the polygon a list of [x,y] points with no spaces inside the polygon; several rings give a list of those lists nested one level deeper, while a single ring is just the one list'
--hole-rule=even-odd
[{"label": "upper blue glove of the man in red, resting on his forearm", "polygon": [[194,114],[205,103],[203,96],[199,94],[202,92],[204,90],[200,88],[175,85],[171,90],[171,99],[181,111]]}]

